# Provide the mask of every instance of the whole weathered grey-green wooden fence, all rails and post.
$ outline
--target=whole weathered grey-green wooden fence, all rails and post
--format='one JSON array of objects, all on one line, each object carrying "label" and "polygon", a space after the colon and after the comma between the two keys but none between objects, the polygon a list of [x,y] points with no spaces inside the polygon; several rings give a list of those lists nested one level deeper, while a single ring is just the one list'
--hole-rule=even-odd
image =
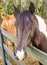
[{"label": "whole weathered grey-green wooden fence, all rails and post", "polygon": [[[9,34],[7,31],[4,29],[0,28],[0,56],[3,58],[4,65],[12,65],[8,58],[5,56],[5,52],[18,64],[18,65],[26,65],[20,60],[17,60],[16,57],[14,56],[13,52],[4,44],[3,42],[3,37],[7,37],[10,39],[12,42],[19,44],[17,39]],[[47,54],[40,51],[39,49],[35,48],[34,46],[30,45],[26,48],[26,51],[32,55],[43,65],[47,65]]]}]

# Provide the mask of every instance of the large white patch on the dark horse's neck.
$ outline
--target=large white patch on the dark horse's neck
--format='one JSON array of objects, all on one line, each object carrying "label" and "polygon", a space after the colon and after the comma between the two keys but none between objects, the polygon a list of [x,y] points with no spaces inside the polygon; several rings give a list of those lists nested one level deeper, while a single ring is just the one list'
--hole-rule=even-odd
[{"label": "large white patch on the dark horse's neck", "polygon": [[38,20],[38,24],[39,24],[39,31],[42,32],[46,37],[47,37],[47,31],[46,31],[46,23],[44,21],[44,19],[42,19],[40,16],[35,15],[37,20]]}]

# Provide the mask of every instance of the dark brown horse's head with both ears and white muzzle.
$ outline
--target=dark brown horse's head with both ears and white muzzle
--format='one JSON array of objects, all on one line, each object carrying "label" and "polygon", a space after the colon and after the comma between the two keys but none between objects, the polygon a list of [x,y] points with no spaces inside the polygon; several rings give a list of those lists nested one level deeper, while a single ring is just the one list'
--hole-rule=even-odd
[{"label": "dark brown horse's head with both ears and white muzzle", "polygon": [[34,16],[35,6],[32,2],[30,3],[29,11],[24,10],[21,12],[15,6],[14,9],[17,14],[14,25],[17,28],[17,39],[19,42],[15,55],[18,59],[22,60],[25,57],[25,48],[34,37],[38,24],[36,23],[36,18]]}]

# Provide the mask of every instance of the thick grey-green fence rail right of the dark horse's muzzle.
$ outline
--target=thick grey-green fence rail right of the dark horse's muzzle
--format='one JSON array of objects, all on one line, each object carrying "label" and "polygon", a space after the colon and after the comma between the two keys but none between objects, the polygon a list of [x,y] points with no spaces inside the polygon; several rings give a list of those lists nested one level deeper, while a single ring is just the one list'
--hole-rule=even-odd
[{"label": "thick grey-green fence rail right of the dark horse's muzzle", "polygon": [[31,46],[26,49],[28,53],[32,54],[43,65],[47,65],[47,54]]}]

